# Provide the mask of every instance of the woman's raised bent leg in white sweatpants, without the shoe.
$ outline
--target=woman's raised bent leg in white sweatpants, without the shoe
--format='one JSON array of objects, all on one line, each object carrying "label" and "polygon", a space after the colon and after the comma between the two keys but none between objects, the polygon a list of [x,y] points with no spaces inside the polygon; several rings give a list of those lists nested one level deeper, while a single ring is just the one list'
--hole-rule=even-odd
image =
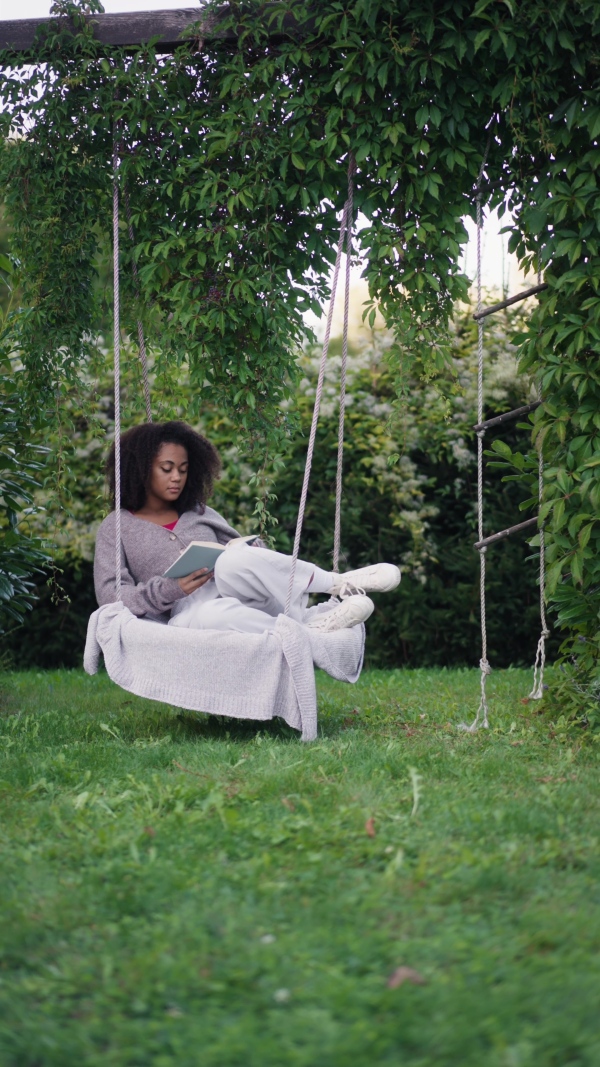
[{"label": "woman's raised bent leg in white sweatpants, without the shoe", "polygon": [[[247,608],[265,612],[274,620],[284,610],[290,570],[290,556],[269,548],[239,545],[221,553],[215,564],[215,582],[222,598],[235,598]],[[328,593],[332,585],[333,575],[329,571],[299,559],[290,618],[302,622],[309,594]]]}]

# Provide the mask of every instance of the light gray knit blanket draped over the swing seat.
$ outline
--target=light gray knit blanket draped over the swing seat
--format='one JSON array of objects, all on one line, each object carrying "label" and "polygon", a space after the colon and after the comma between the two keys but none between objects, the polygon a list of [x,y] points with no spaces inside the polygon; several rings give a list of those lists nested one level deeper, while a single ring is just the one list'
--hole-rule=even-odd
[{"label": "light gray knit blanket draped over the swing seat", "polygon": [[137,697],[236,719],[279,716],[314,740],[314,667],[357,682],[364,642],[364,625],[321,633],[284,615],[265,634],[167,626],[119,601],[91,616],[83,667],[95,674],[101,653],[109,678]]}]

